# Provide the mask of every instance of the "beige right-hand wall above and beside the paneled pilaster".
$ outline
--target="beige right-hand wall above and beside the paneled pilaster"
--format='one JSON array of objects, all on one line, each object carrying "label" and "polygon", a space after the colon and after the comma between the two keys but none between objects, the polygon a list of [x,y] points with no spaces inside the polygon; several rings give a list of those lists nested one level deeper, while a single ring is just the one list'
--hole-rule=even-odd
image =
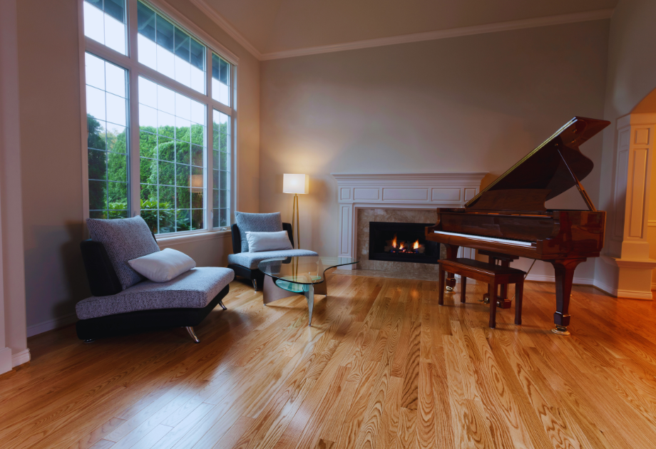
[{"label": "beige right-hand wall above and beside the paneled pilaster", "polygon": [[[620,0],[610,20],[608,69],[604,118],[611,121],[603,138],[600,182],[600,208],[608,211],[606,247],[610,256],[619,257],[619,244],[610,242],[610,226],[615,217],[613,186],[617,151],[617,118],[628,113],[656,113],[656,2]],[[651,95],[650,95],[651,94]],[[653,179],[653,178],[652,178]],[[653,193],[652,193],[653,195]],[[652,196],[653,198],[653,196]],[[624,214],[622,210],[620,213]],[[654,207],[650,208],[650,220]],[[654,229],[647,233],[654,236]],[[656,238],[650,239],[656,241]],[[650,248],[650,252],[656,249]],[[651,257],[656,257],[656,253]],[[611,284],[613,267],[598,263],[596,277]],[[656,277],[654,278],[656,280]]]}]

